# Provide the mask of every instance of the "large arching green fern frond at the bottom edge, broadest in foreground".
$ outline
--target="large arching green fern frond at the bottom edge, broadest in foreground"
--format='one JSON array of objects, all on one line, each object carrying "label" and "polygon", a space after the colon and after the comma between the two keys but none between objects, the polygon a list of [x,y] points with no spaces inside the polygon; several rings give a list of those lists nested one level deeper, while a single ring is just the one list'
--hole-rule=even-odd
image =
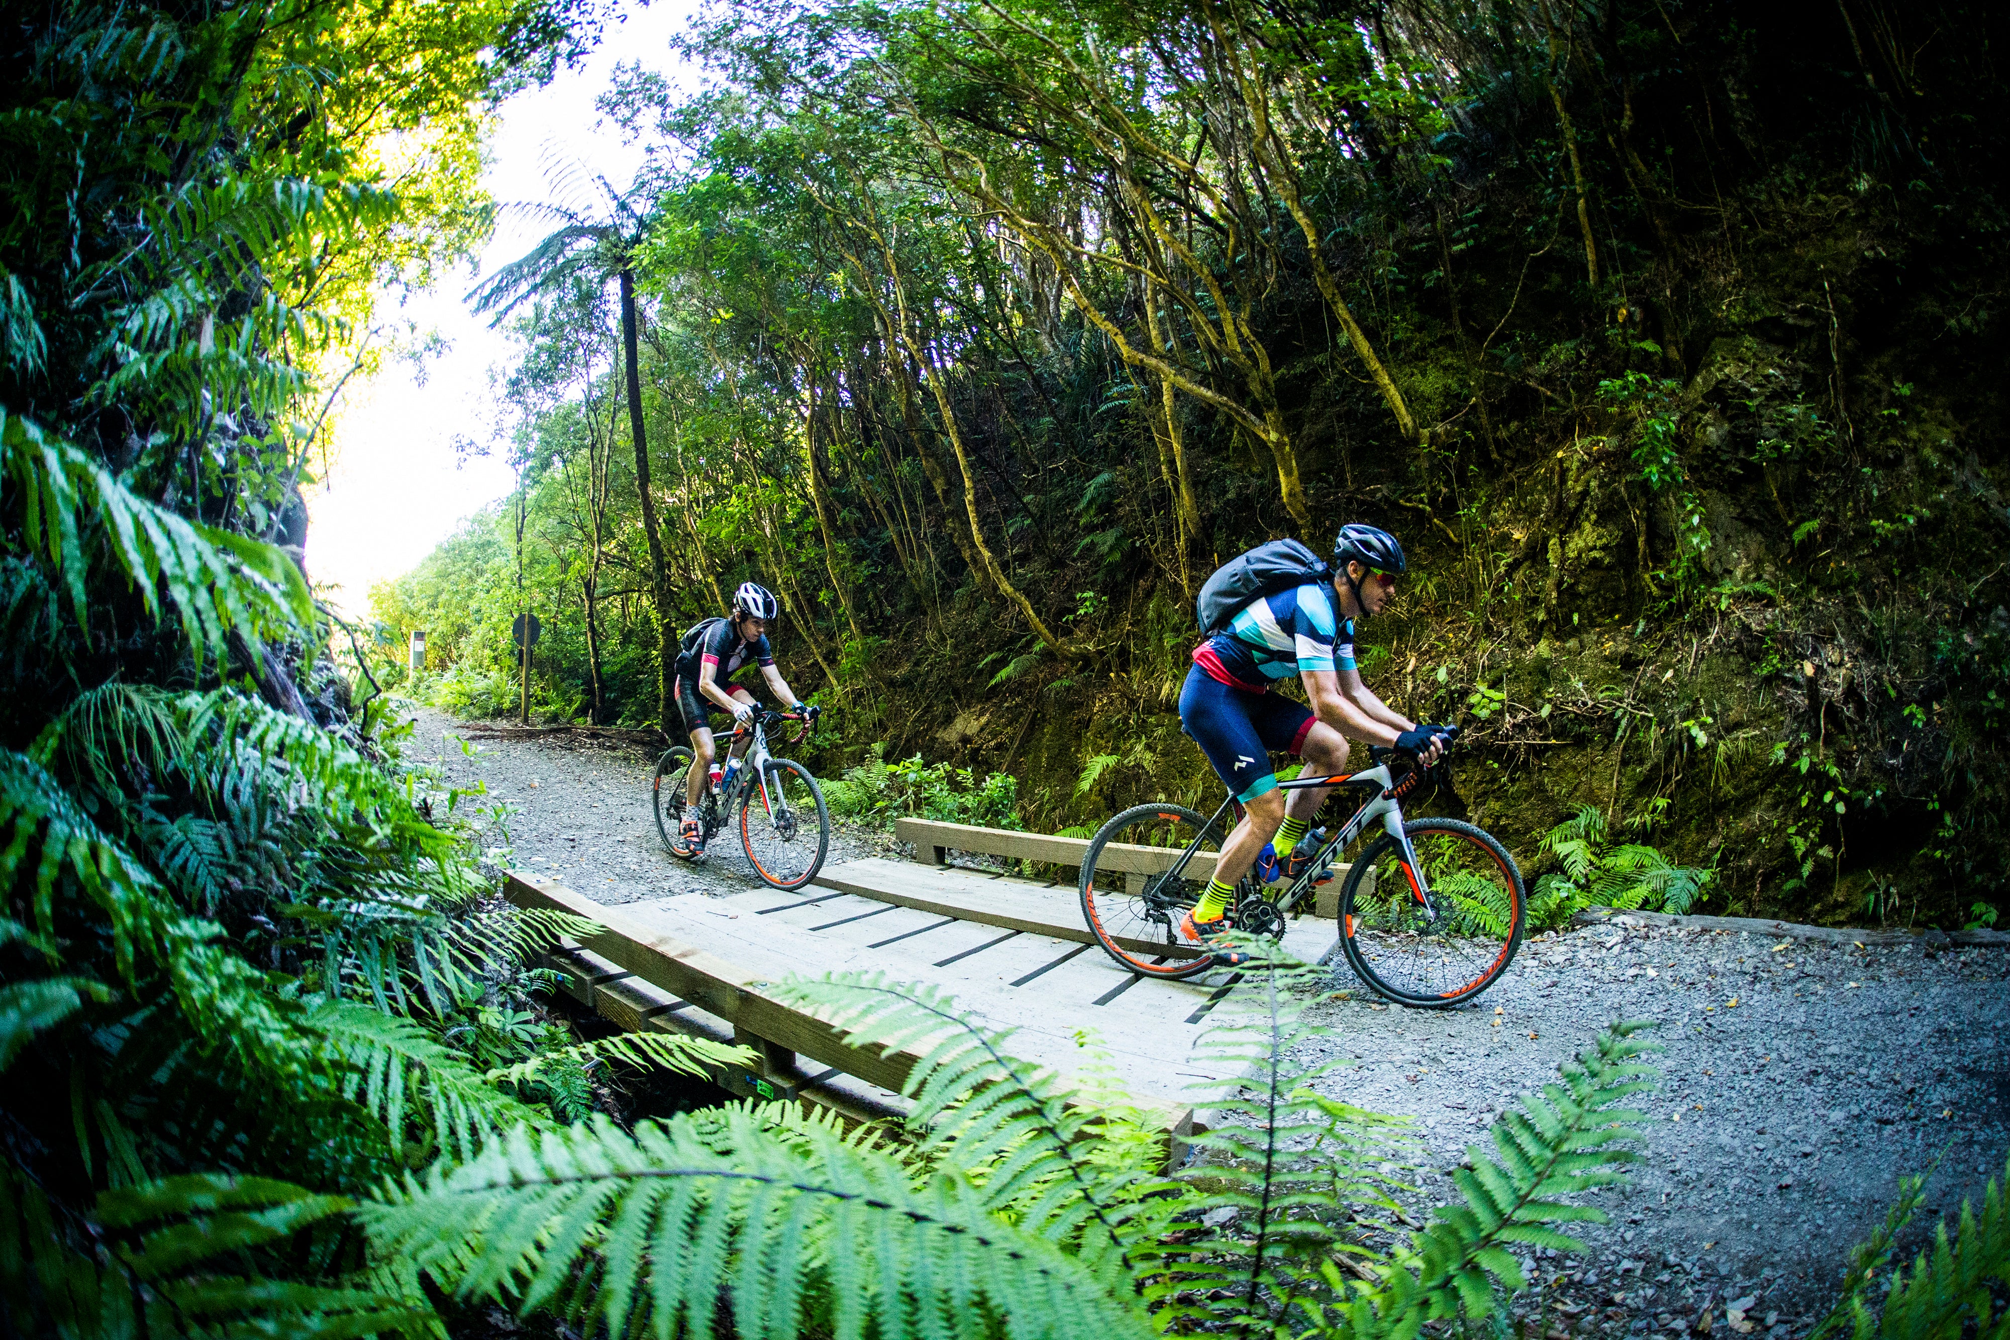
[{"label": "large arching green fern frond at the bottom edge, broadest in foreground", "polygon": [[750,1340],[1152,1336],[1126,1278],[993,1213],[967,1179],[917,1185],[878,1149],[816,1131],[784,1143],[746,1109],[703,1131],[685,1117],[513,1131],[358,1215],[376,1258],[410,1258],[460,1298],[559,1306],[611,1334],[714,1334],[730,1298]]}]

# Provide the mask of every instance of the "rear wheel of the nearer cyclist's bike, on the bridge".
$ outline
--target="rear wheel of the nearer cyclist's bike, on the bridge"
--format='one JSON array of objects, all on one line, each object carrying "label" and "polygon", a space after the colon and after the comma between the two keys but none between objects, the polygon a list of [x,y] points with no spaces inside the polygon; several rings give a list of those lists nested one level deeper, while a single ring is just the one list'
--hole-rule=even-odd
[{"label": "rear wheel of the nearer cyclist's bike, on the bridge", "polygon": [[[1226,834],[1184,806],[1134,806],[1089,838],[1081,858],[1081,914],[1103,952],[1140,976],[1200,976],[1214,958],[1174,930],[1214,878]],[[1188,854],[1188,848],[1194,848]]]}]

